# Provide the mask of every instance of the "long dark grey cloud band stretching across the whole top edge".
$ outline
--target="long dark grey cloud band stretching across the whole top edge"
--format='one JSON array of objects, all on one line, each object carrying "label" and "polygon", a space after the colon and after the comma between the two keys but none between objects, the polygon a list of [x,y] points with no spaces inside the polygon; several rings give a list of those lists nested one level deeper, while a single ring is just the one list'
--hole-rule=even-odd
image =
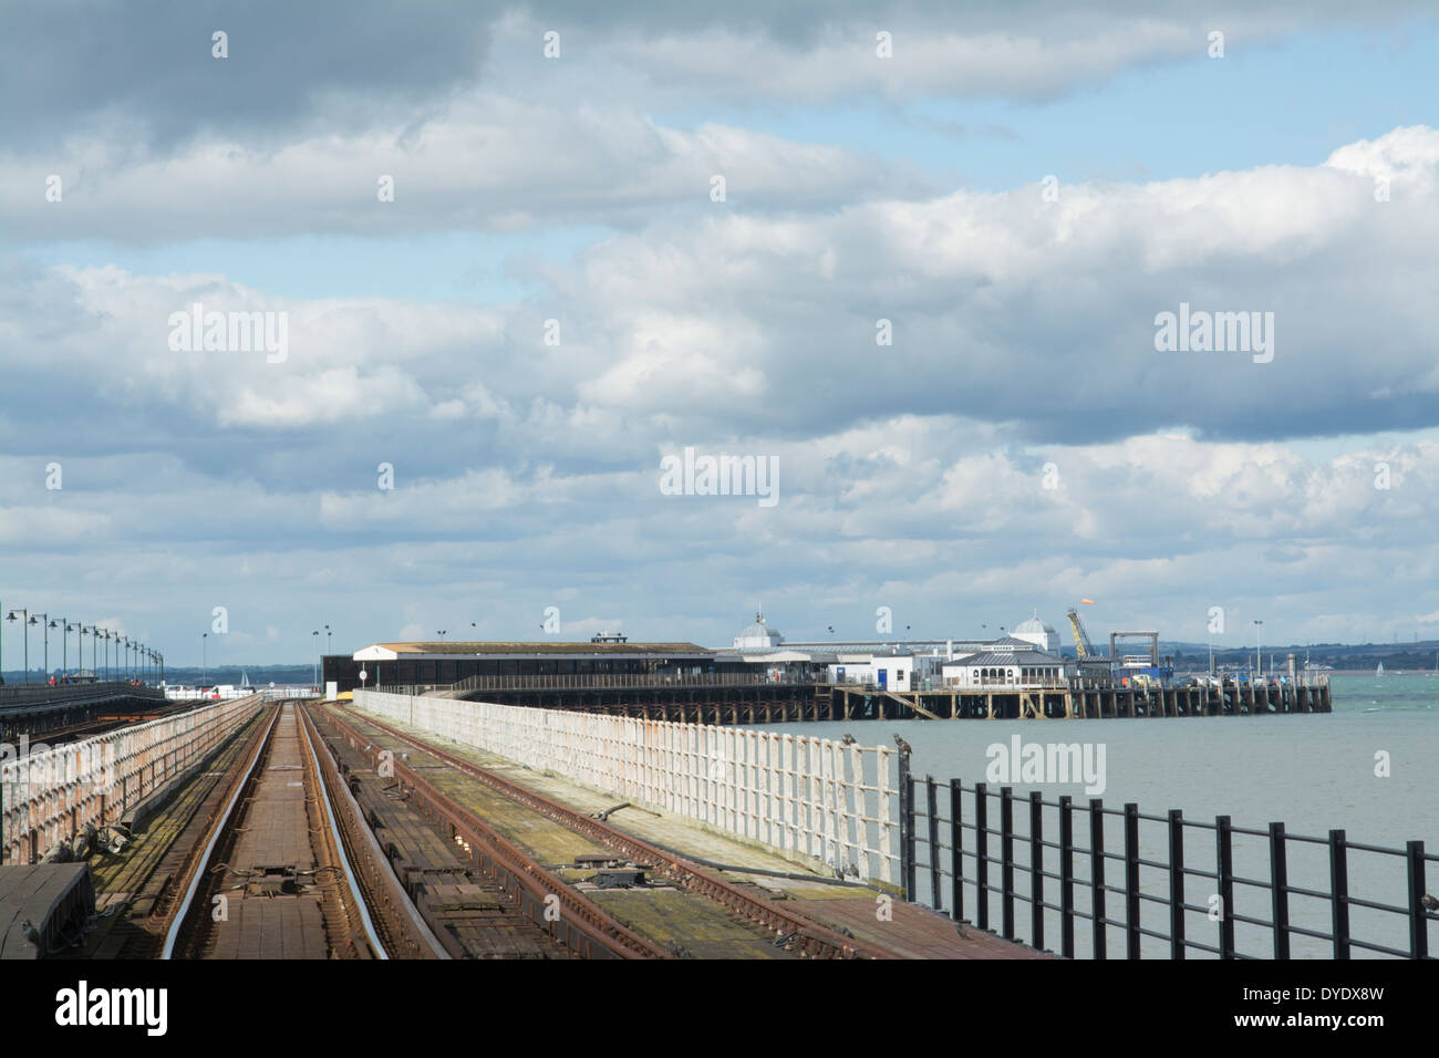
[{"label": "long dark grey cloud band stretching across the whole top edge", "polygon": [[[75,137],[104,132],[137,153],[168,153],[196,135],[235,137],[263,145],[283,141],[295,124],[322,122],[327,128],[368,128],[386,115],[412,117],[443,105],[453,92],[484,85],[486,59],[496,26],[515,17],[534,26],[573,33],[570,52],[580,63],[613,53],[645,66],[636,42],[689,40],[701,50],[714,46],[707,35],[753,37],[802,59],[833,35],[863,29],[904,30],[911,42],[940,35],[1025,37],[1043,49],[1081,46],[1115,50],[1112,62],[1097,56],[1072,72],[1036,66],[1026,73],[1046,94],[1092,81],[1117,66],[1168,58],[1173,32],[1186,35],[1227,26],[1236,35],[1276,35],[1304,27],[1345,23],[1384,23],[1430,14],[1410,0],[1376,0],[1361,9],[1340,0],[1320,0],[1297,9],[1289,3],[1213,4],[1180,0],[1156,9],[1147,0],[1105,0],[1066,4],[1056,10],[1043,0],[991,0],[953,4],[945,0],[901,3],[827,3],[768,0],[737,3],[612,4],[469,4],[456,0],[223,0],[164,3],[163,0],[56,0],[7,4],[0,13],[0,153],[55,147]],[[229,58],[212,58],[212,33],[229,33]],[[1122,46],[1132,36],[1132,49]],[[872,46],[868,45],[868,46]],[[507,42],[514,50],[515,42]],[[538,56],[538,40],[532,56]],[[494,56],[514,59],[514,56]],[[1071,56],[1072,59],[1073,56]],[[684,81],[672,56],[656,56],[656,71]],[[600,68],[603,71],[603,66]],[[606,75],[602,73],[602,78]],[[732,69],[731,88],[744,91],[755,76],[773,82],[773,72]],[[783,79],[776,82],[783,85]],[[961,85],[963,92],[1036,91],[1032,83]],[[714,78],[696,85],[724,91]],[[603,94],[607,85],[591,81]],[[790,85],[794,88],[794,85]],[[935,88],[941,88],[935,85]],[[825,91],[825,89],[816,89]]]}]

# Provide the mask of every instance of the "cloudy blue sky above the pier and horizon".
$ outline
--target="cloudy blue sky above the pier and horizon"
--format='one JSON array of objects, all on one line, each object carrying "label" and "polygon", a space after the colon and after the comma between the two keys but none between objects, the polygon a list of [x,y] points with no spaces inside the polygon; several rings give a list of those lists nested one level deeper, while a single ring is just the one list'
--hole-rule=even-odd
[{"label": "cloudy blue sky above the pier and horizon", "polygon": [[1436,69],[1399,0],[4,6],[0,612],[1433,639]]}]

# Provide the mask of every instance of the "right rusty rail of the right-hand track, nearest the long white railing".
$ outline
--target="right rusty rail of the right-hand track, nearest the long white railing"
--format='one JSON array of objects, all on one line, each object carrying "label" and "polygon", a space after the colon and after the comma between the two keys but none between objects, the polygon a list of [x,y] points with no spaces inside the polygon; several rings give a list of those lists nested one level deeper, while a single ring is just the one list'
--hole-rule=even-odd
[{"label": "right rusty rail of the right-hand track, nearest the long white railing", "polygon": [[[344,721],[334,717],[337,725],[345,727]],[[859,947],[855,940],[845,937],[840,933],[829,930],[809,918],[800,917],[791,911],[786,911],[778,904],[773,904],[761,897],[754,897],[744,892],[735,885],[718,878],[708,871],[701,869],[698,865],[676,856],[672,852],[666,852],[656,845],[650,845],[633,835],[625,833],[606,822],[587,816],[581,812],[560,805],[555,800],[550,800],[532,790],[527,790],[522,786],[517,786],[507,779],[495,774],[482,767],[476,767],[463,757],[458,757],[452,753],[446,753],[437,746],[422,741],[419,738],[412,738],[410,736],[399,731],[389,724],[381,724],[380,721],[366,717],[367,724],[389,733],[394,738],[413,746],[417,750],[429,753],[439,760],[443,760],[450,767],[463,772],[472,779],[478,779],[494,790],[511,797],[512,800],[525,805],[527,808],[535,809],[537,812],[545,815],[547,818],[561,823],[567,829],[583,833],[587,838],[593,838],[613,849],[623,852],[626,856],[635,861],[643,861],[653,864],[665,871],[666,875],[678,881],[684,888],[691,892],[708,897],[715,903],[724,904],[734,914],[763,926],[767,930],[774,931],[778,936],[790,936],[796,949],[806,956],[820,957],[820,959],[882,959],[889,957],[889,953],[873,949],[873,947]],[[353,728],[347,728],[355,737]],[[396,763],[396,770],[399,772],[400,764]],[[423,780],[422,780],[423,782]],[[458,806],[456,806],[458,808]],[[458,809],[465,812],[465,809]],[[466,813],[469,815],[469,813]],[[471,816],[473,818],[473,816]],[[478,820],[475,820],[478,822]],[[485,828],[488,829],[488,828]],[[498,838],[498,835],[496,835]],[[504,839],[501,839],[504,841]],[[589,903],[589,901],[586,901]]]}]

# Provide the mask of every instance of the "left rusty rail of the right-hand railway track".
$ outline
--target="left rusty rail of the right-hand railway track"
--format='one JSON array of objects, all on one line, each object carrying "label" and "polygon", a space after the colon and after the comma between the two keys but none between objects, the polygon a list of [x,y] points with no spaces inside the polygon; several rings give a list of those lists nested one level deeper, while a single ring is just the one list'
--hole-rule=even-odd
[{"label": "left rusty rail of the right-hand railway track", "polygon": [[[325,710],[324,713],[327,720],[335,725],[351,746],[360,749],[373,763],[378,763],[380,749],[373,746],[373,740],[366,738],[366,736],[345,724],[332,711]],[[366,749],[361,749],[361,746],[366,746]],[[417,772],[399,760],[391,760],[390,764],[394,769],[394,777],[417,793],[422,803],[436,818],[449,822],[460,838],[489,859],[491,872],[501,885],[519,900],[521,907],[525,904],[530,905],[531,920],[534,920],[535,911],[544,910],[537,924],[553,933],[558,940],[568,943],[571,949],[587,957],[594,957],[599,953],[620,959],[673,957],[669,951],[639,936],[607,914],[596,903],[547,871],[507,841],[499,832],[481,820],[479,816],[465,806],[458,805]],[[557,917],[551,917],[551,914]],[[578,940],[577,944],[560,936],[561,930],[558,926],[561,924],[578,934],[576,939]],[[599,949],[599,951],[594,949]]]}]

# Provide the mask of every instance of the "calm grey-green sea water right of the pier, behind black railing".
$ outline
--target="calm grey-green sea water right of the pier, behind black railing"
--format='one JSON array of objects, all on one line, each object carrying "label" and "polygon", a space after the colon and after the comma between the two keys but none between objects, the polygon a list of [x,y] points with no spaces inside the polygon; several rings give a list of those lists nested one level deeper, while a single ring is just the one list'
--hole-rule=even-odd
[{"label": "calm grey-green sea water right of the pier, behind black railing", "polygon": [[[1104,749],[1105,808],[1137,803],[1140,812],[1166,816],[1180,809],[1186,819],[1213,823],[1227,815],[1238,828],[1268,829],[1271,822],[1282,822],[1289,833],[1327,838],[1331,829],[1343,829],[1348,842],[1403,849],[1407,841],[1423,841],[1425,851],[1439,852],[1439,677],[1433,674],[1345,675],[1331,678],[1333,713],[1255,717],[1140,717],[1107,720],[882,720],[833,721],[774,725],[797,736],[839,738],[853,734],[863,746],[894,746],[899,734],[914,747],[911,770],[921,779],[920,808],[924,808],[925,776],[947,785],[961,779],[966,786],[989,780],[989,769],[996,754],[994,746],[1022,743],[1079,743]],[[1098,754],[1094,754],[1097,759]],[[1084,782],[990,783],[1012,786],[1016,796],[1014,829],[1027,833],[1030,790],[1039,790],[1045,800],[1069,795],[1076,809],[1089,803]],[[989,825],[999,828],[999,803],[990,799]],[[940,793],[940,813],[947,812],[948,796]],[[973,822],[973,799],[964,797],[967,822]],[[1055,810],[1046,809],[1045,839],[1056,841]],[[947,831],[947,828],[941,828]],[[920,823],[921,836],[925,825]],[[1141,856],[1160,864],[1168,862],[1167,828],[1158,822],[1144,822],[1140,828]],[[947,835],[941,835],[945,841]],[[974,848],[973,832],[964,841]],[[1075,844],[1088,848],[1089,833],[1084,812],[1075,812]],[[1124,822],[1105,818],[1105,846],[1114,852],[1124,849]],[[1291,887],[1328,892],[1330,859],[1327,845],[1288,842],[1288,875]],[[1238,835],[1233,839],[1235,874],[1258,881],[1269,880],[1269,841],[1266,836]],[[999,838],[989,839],[989,854],[999,854]],[[1029,845],[1016,841],[1016,859],[1029,864]],[[921,845],[918,858],[927,861]],[[948,852],[941,852],[948,865]],[[1215,871],[1215,832],[1186,828],[1184,862],[1189,868]],[[973,859],[966,872],[973,877]],[[1059,872],[1059,854],[1045,849],[1045,869]],[[1426,888],[1439,892],[1439,864],[1426,867]],[[1107,862],[1108,885],[1124,885],[1124,864]],[[1075,856],[1076,878],[1088,878],[1088,856]],[[1353,897],[1404,907],[1407,890],[1402,856],[1387,856],[1351,851],[1348,855],[1348,885]],[[999,867],[990,865],[990,885],[999,885]],[[927,871],[920,869],[917,897],[930,901]],[[1140,888],[1160,897],[1168,894],[1168,872],[1145,867],[1140,874]],[[943,880],[945,907],[948,880]],[[1184,882],[1187,904],[1203,908],[1186,914],[1186,934],[1207,944],[1217,943],[1216,884],[1202,877]],[[1045,882],[1045,900],[1059,903],[1056,881]],[[1016,891],[1027,894],[1027,877],[1016,871]],[[974,920],[974,890],[966,887],[966,918]],[[1075,903],[1088,911],[1089,890],[1075,888]],[[1235,888],[1230,913],[1268,921],[1272,914],[1269,892],[1243,884]],[[1311,897],[1291,897],[1291,923],[1320,931],[1331,928],[1330,901]],[[999,898],[991,897],[990,927],[999,928]],[[1016,903],[1017,933],[1029,936],[1029,905]],[[1124,918],[1124,898],[1109,894],[1107,915]],[[1353,908],[1351,936],[1407,950],[1409,924],[1403,915]],[[1144,901],[1141,924],[1168,933],[1168,910]],[[1107,930],[1107,951],[1111,957],[1124,954],[1122,927]],[[1272,930],[1248,926],[1236,920],[1236,944],[1242,953],[1271,957]],[[1046,914],[1045,946],[1059,947],[1059,915]],[[1085,923],[1076,926],[1076,954],[1091,954],[1091,934]],[[1144,937],[1145,957],[1166,957],[1167,941]],[[1333,944],[1299,934],[1291,936],[1294,957],[1333,956]],[[1373,956],[1360,949],[1353,957]],[[1190,951],[1189,957],[1206,957]]]}]

